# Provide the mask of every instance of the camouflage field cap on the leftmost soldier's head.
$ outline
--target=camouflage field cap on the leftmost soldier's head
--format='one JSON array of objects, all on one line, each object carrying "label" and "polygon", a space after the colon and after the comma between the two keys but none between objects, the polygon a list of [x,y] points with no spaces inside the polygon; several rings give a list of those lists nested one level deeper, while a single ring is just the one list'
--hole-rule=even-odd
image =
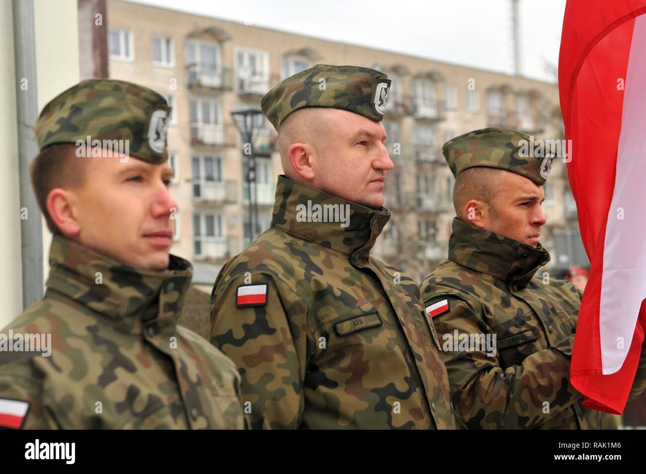
[{"label": "camouflage field cap on the leftmost soldier's head", "polygon": [[41,112],[34,134],[39,149],[78,140],[128,140],[130,156],[154,164],[168,159],[171,107],[147,87],[113,79],[88,79],[62,92]]}]

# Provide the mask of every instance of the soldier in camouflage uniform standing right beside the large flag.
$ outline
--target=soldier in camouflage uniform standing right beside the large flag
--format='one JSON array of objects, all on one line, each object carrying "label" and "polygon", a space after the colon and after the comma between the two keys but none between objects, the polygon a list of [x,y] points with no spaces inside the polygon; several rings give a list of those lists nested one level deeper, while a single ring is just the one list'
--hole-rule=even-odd
[{"label": "soldier in camouflage uniform standing right beside the large flag", "polygon": [[[537,273],[550,261],[538,236],[545,224],[541,187],[554,158],[528,156],[523,146],[529,142],[523,133],[488,128],[443,147],[456,177],[458,217],[448,259],[422,283],[422,299],[443,347],[457,419],[470,429],[615,427],[611,415],[584,407],[583,395],[569,383],[581,292]],[[501,217],[504,192],[526,212],[524,235],[522,226]],[[495,340],[493,350],[485,349],[486,338]],[[645,369],[642,357],[631,396],[643,391]]]}]

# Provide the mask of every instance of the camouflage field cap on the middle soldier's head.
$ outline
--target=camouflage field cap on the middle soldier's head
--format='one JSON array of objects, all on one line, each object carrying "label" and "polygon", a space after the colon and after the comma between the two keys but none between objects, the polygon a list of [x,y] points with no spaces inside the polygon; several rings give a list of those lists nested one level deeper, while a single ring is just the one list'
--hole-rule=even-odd
[{"label": "camouflage field cap on the middle soldier's head", "polygon": [[262,98],[262,111],[276,131],[289,114],[303,107],[332,107],[382,120],[390,79],[358,66],[317,64],[287,78]]}]

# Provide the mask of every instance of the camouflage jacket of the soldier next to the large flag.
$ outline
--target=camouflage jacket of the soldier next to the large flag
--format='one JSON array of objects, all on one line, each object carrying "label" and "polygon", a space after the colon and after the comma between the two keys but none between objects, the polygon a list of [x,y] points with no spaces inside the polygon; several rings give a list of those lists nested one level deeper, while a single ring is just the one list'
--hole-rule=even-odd
[{"label": "camouflage jacket of the soldier next to the large flag", "polygon": [[[583,407],[570,385],[581,293],[547,272],[535,275],[549,260],[542,246],[454,219],[448,260],[422,283],[457,418],[468,428],[615,427],[610,415]],[[462,335],[483,335],[485,344],[495,336],[494,347],[468,346]],[[639,384],[632,396],[643,391]]]}]

